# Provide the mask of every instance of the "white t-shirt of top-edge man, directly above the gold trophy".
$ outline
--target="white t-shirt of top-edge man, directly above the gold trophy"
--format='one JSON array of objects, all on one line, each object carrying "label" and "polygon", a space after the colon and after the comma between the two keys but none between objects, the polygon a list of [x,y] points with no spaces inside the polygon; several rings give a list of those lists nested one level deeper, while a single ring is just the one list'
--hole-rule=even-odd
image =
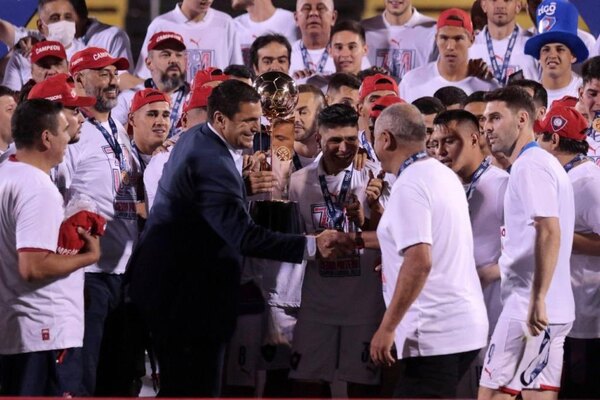
[{"label": "white t-shirt of top-edge man, directly above the gold trophy", "polygon": [[277,8],[275,13],[265,21],[254,22],[250,19],[248,13],[236,17],[234,21],[242,46],[244,63],[248,66],[252,64],[250,61],[250,46],[257,37],[268,33],[278,33],[285,36],[290,43],[300,37],[294,13],[282,8]]}]

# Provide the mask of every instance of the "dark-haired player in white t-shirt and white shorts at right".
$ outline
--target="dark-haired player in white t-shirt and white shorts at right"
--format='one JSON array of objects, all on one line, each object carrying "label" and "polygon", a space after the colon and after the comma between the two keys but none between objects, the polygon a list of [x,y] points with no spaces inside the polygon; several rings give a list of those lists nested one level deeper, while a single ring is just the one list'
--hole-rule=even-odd
[{"label": "dark-haired player in white t-shirt and white shorts at right", "polygon": [[[534,141],[535,108],[519,87],[486,95],[485,134],[510,163],[504,197],[502,312],[485,354],[479,398],[556,398],[575,318],[570,263],[573,187]],[[556,119],[558,127],[564,120]]]}]

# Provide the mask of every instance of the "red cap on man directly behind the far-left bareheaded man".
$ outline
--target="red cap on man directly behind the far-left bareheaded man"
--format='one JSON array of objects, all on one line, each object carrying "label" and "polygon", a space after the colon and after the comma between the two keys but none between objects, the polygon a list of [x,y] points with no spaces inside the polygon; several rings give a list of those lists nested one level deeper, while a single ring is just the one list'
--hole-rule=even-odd
[{"label": "red cap on man directly behind the far-left bareheaded man", "polygon": [[91,107],[96,104],[96,99],[87,96],[78,96],[73,78],[67,74],[58,74],[36,83],[27,100],[46,99],[61,103],[65,107]]}]

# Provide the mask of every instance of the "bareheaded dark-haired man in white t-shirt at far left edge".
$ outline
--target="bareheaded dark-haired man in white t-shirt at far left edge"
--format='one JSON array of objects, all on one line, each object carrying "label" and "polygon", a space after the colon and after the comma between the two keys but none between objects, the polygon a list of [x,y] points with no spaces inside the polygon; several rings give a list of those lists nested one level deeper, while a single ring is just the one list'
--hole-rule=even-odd
[{"label": "bareheaded dark-haired man in white t-shirt at far left edge", "polygon": [[21,103],[17,148],[0,167],[0,393],[76,396],[81,385],[83,274],[100,256],[98,238],[79,228],[76,255],[56,254],[63,199],[50,170],[64,157],[69,124],[59,103]]}]

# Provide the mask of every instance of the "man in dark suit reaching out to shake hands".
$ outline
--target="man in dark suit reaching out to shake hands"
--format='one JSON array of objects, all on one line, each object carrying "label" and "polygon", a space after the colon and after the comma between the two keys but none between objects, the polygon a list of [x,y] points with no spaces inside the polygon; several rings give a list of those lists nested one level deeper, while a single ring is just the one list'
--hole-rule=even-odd
[{"label": "man in dark suit reaching out to shake hands", "polygon": [[354,247],[335,231],[286,235],[250,218],[241,150],[252,148],[259,130],[259,100],[235,80],[213,90],[209,122],[184,133],[174,147],[132,255],[129,293],[152,333],[160,396],[219,395],[242,256],[299,263],[317,251],[331,257]]}]

